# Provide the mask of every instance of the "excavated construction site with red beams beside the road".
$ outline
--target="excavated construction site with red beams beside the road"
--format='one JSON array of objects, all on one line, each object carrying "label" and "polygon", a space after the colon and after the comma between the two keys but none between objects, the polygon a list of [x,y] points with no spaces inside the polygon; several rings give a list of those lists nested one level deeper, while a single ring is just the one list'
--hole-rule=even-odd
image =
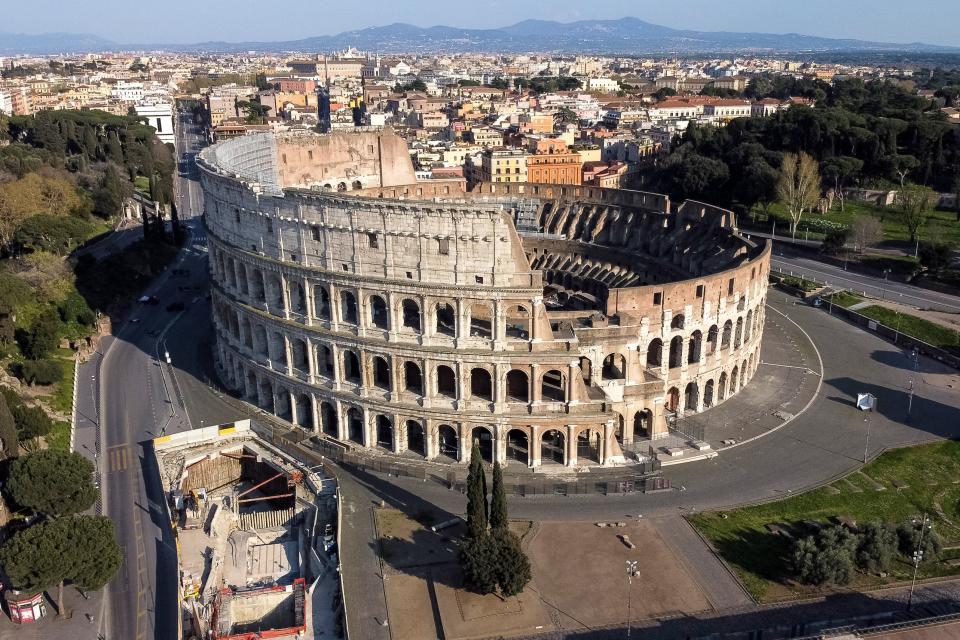
[{"label": "excavated construction site with red beams beside the road", "polygon": [[180,638],[343,635],[336,480],[249,420],[157,438],[179,561]]}]

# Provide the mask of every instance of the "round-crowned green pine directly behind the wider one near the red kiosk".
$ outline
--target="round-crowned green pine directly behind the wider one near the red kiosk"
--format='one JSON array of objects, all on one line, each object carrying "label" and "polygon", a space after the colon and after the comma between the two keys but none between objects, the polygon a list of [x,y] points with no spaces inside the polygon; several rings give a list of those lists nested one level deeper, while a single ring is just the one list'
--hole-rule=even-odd
[{"label": "round-crowned green pine directly behind the wider one near the red kiosk", "polygon": [[93,463],[79,453],[37,451],[13,463],[7,491],[21,507],[54,518],[69,516],[96,501],[93,471]]}]

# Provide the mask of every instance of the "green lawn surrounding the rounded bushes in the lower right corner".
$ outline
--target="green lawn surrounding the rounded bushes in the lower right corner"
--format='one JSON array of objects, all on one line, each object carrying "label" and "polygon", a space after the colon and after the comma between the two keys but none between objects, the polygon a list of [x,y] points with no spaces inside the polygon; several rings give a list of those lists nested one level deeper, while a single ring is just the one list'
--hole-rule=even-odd
[{"label": "green lawn surrounding the rounded bushes in the lower right corner", "polygon": [[[788,558],[792,543],[770,533],[766,525],[780,524],[798,535],[808,529],[804,520],[826,524],[847,516],[858,523],[901,523],[927,513],[944,545],[960,541],[960,442],[946,441],[888,451],[846,478],[807,493],[753,507],[690,516],[690,522],[736,571],[747,590],[760,601],[814,596],[823,589],[790,579]],[[882,487],[882,490],[880,488]],[[941,515],[942,514],[942,515]],[[921,578],[960,574],[960,566],[945,560],[921,565]],[[891,575],[881,578],[857,574],[851,587],[876,587],[907,580],[912,565],[893,563]]]}]

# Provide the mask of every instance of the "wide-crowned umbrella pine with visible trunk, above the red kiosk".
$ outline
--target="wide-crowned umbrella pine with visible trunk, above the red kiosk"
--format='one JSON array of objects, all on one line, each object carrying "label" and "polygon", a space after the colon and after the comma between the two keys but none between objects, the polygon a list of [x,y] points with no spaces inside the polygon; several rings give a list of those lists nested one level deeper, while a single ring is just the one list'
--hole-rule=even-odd
[{"label": "wide-crowned umbrella pine with visible trunk, above the red kiosk", "polygon": [[123,562],[113,522],[106,516],[70,516],[21,529],[0,547],[0,563],[17,589],[38,592],[57,585],[57,609],[66,615],[63,585],[102,588]]}]

